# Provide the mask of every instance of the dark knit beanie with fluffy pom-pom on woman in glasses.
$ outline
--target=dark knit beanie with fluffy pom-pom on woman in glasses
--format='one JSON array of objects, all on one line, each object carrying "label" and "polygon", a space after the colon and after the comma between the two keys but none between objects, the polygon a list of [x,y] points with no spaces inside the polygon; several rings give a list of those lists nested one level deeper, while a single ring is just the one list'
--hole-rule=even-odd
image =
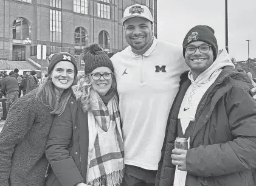
[{"label": "dark knit beanie with fluffy pom-pom on woman in glasses", "polygon": [[83,49],[83,61],[85,61],[85,74],[89,74],[97,67],[102,66],[109,67],[114,72],[112,61],[97,43],[90,44]]}]

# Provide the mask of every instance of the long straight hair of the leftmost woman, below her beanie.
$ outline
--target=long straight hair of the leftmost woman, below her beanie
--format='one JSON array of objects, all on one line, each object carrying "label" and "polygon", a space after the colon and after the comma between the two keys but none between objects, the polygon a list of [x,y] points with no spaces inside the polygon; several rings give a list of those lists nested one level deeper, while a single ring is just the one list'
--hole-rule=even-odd
[{"label": "long straight hair of the leftmost woman, below her beanie", "polygon": [[55,85],[52,83],[52,78],[50,77],[52,72],[46,78],[43,84],[38,88],[35,98],[36,101],[42,103],[48,108],[52,109],[50,114],[60,115],[64,112],[67,102],[72,95],[72,86],[75,84],[75,78],[77,77],[77,72],[75,72],[74,82],[72,85],[63,91],[61,94],[60,102],[58,101],[57,95],[55,94]]}]

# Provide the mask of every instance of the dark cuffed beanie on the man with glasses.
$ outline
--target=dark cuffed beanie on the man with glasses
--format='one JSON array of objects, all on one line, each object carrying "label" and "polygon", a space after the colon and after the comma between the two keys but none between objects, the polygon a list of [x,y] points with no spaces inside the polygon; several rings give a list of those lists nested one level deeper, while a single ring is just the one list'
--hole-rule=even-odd
[{"label": "dark cuffed beanie on the man with glasses", "polygon": [[214,55],[213,61],[215,61],[218,55],[218,43],[215,38],[214,30],[212,29],[212,27],[209,27],[206,25],[198,25],[193,27],[191,30],[189,30],[182,44],[184,57],[185,57],[185,47],[194,41],[204,41],[212,45],[212,50]]}]

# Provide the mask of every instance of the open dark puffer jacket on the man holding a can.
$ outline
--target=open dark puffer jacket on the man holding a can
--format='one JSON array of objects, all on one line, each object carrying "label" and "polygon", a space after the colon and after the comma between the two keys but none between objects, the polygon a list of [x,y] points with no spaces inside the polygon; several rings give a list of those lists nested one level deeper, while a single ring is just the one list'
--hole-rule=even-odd
[{"label": "open dark puffer jacket on the man holding a can", "polygon": [[[171,151],[178,136],[178,114],[191,82],[181,76],[165,133],[156,185],[173,185]],[[224,67],[201,99],[187,151],[186,186],[256,185],[256,102],[246,72]]]}]

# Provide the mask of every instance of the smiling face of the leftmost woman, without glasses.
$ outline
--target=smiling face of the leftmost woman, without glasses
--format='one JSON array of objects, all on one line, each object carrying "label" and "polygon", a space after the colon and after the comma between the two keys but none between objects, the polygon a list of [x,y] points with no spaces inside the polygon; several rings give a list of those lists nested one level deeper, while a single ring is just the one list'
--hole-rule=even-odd
[{"label": "smiling face of the leftmost woman, without glasses", "polygon": [[52,83],[55,85],[55,94],[61,95],[64,89],[69,88],[74,82],[75,67],[69,61],[60,61],[55,64],[52,74]]}]

